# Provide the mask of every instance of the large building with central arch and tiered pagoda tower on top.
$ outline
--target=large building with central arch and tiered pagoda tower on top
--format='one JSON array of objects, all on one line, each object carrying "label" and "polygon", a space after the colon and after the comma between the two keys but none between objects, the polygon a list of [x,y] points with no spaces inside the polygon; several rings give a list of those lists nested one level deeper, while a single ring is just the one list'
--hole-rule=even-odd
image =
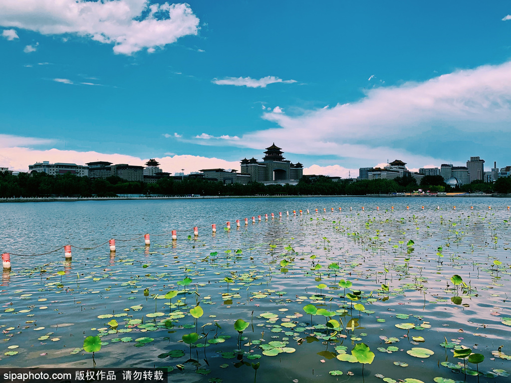
[{"label": "large building with central arch and tiered pagoda tower on top", "polygon": [[291,163],[283,157],[284,152],[273,143],[266,148],[262,161],[255,158],[241,160],[241,173],[249,174],[250,181],[262,183],[297,183],[304,175],[304,165]]}]

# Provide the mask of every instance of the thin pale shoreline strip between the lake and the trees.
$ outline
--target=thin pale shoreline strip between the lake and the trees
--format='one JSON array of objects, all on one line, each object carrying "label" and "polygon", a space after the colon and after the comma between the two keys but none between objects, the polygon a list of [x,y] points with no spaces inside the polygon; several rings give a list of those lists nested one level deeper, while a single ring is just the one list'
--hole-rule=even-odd
[{"label": "thin pale shoreline strip between the lake and the trees", "polygon": [[229,199],[229,198],[511,198],[511,194],[452,194],[452,195],[366,195],[366,196],[173,196],[173,197],[25,197],[0,198],[0,203],[9,202],[79,202],[79,201],[154,201],[154,200],[199,200],[199,199]]}]

